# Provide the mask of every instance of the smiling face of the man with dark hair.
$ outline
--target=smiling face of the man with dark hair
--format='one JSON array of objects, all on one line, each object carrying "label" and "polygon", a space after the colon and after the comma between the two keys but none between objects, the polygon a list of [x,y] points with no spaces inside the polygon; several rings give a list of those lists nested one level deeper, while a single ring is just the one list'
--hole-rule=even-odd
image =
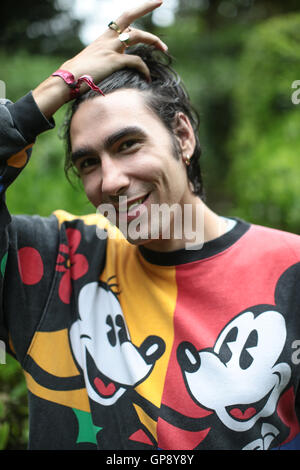
[{"label": "smiling face of the man with dark hair", "polygon": [[140,240],[127,234],[129,241],[151,238],[151,205],[183,207],[189,202],[182,158],[176,157],[172,137],[141,92],[118,90],[83,102],[70,135],[73,161],[90,202],[95,207],[113,204],[119,227],[147,214],[148,229],[144,224],[143,231],[141,224]]}]

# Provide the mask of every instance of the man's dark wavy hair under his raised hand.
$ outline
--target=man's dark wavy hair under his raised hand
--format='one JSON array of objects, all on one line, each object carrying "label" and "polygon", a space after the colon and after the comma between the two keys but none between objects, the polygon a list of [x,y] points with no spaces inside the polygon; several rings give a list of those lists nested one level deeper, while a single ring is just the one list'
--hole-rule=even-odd
[{"label": "man's dark wavy hair under his raised hand", "polygon": [[[104,94],[109,94],[122,88],[136,89],[145,92],[146,104],[155,112],[169,131],[173,138],[175,150],[177,146],[174,135],[176,113],[183,112],[189,118],[194,130],[196,145],[190,159],[190,165],[187,166],[187,176],[192,183],[193,193],[201,199],[204,199],[204,188],[199,163],[201,156],[198,136],[200,120],[197,111],[191,105],[189,95],[179,75],[172,68],[172,57],[168,53],[145,45],[130,47],[126,49],[125,52],[127,54],[138,55],[143,59],[150,70],[151,82],[148,82],[136,69],[124,68],[114,72],[97,85]],[[78,176],[71,159],[71,120],[81,103],[93,99],[96,96],[99,96],[99,93],[93,90],[82,94],[71,103],[65,116],[61,136],[65,141],[66,158],[64,170],[69,181],[71,181],[69,178],[70,171]],[[179,156],[178,151],[177,155]]]}]

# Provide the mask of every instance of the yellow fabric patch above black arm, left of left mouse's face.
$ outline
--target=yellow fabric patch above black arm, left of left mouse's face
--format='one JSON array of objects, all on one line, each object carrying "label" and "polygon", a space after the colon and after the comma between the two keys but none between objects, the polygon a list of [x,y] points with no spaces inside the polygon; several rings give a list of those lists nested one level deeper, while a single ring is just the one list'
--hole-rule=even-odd
[{"label": "yellow fabric patch above black arm, left of left mouse's face", "polygon": [[79,375],[70,351],[67,328],[51,332],[37,331],[28,354],[43,370],[56,377]]}]

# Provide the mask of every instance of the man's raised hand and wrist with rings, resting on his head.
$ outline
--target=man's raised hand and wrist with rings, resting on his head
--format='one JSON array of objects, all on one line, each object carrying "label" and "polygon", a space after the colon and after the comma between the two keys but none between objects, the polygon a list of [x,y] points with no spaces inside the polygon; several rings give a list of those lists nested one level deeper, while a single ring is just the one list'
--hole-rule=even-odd
[{"label": "man's raised hand and wrist with rings, resting on his head", "polygon": [[[114,20],[114,24],[117,25],[116,30],[107,27],[101,36],[59,68],[70,72],[75,80],[82,75],[89,75],[96,83],[124,67],[136,68],[149,78],[150,73],[143,60],[132,54],[124,54],[124,51],[128,45],[137,43],[151,44],[162,51],[167,50],[167,46],[159,37],[130,26],[131,23],[155,10],[162,3],[162,0],[150,0],[124,12]],[[122,41],[121,33],[126,34],[128,38],[126,42]],[[80,91],[84,92],[86,89],[86,85],[83,85]],[[33,91],[33,97],[41,111],[49,118],[70,100],[70,89],[60,77],[51,76]]]}]

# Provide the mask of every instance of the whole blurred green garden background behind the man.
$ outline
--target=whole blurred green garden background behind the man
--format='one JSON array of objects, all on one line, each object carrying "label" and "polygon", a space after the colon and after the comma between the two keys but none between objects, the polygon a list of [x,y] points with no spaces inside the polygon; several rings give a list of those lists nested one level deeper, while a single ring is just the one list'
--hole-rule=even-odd
[{"label": "whole blurred green garden background behind the man", "polygon": [[[94,1],[104,3],[110,4]],[[73,15],[73,5],[1,2],[0,80],[7,98],[16,101],[34,89],[84,46],[80,32],[87,25]],[[125,7],[120,2],[119,13]],[[300,80],[299,2],[165,0],[164,9],[163,21],[157,12],[156,20],[148,15],[138,26],[168,44],[200,115],[208,205],[221,215],[299,234],[300,104],[292,101],[293,93],[300,98],[292,88]],[[110,16],[115,19],[115,8]],[[8,191],[13,214],[95,212],[80,186],[64,176],[58,134],[65,111],[55,115],[56,128],[38,138],[29,166]],[[0,364],[0,449],[26,448],[27,428],[23,375],[7,356]]]}]

